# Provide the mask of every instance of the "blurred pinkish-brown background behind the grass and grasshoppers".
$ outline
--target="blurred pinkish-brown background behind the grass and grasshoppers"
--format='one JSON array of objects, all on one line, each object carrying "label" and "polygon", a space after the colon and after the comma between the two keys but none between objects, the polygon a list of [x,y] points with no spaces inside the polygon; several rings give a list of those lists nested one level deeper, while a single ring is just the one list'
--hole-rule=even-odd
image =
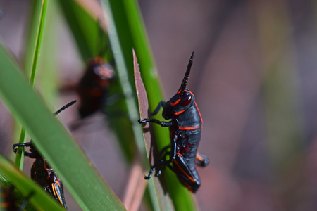
[{"label": "blurred pinkish-brown background behind the grass and grasshoppers", "polygon": [[[0,0],[1,41],[18,58],[29,6]],[[199,151],[210,160],[199,169],[200,209],[316,210],[317,2],[139,0],[139,6],[166,100],[195,51],[187,87],[204,119]],[[60,83],[75,82],[85,64],[57,6],[56,18],[51,36],[60,44]],[[57,110],[74,97],[56,92],[58,104],[51,103]],[[66,125],[77,120],[75,108],[60,117]],[[73,136],[122,198],[129,167],[113,134],[102,129],[103,117],[89,121],[100,124]],[[11,157],[12,126],[1,105],[0,151]],[[70,196],[66,200],[69,210],[79,209]]]}]

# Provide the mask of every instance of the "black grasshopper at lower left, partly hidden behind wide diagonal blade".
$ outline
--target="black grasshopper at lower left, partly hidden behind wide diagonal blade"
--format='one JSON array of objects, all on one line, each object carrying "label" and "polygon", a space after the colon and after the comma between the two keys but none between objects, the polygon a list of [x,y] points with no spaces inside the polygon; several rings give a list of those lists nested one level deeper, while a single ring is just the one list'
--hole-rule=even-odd
[{"label": "black grasshopper at lower left, partly hidden behind wide diagonal blade", "polygon": [[[66,106],[63,106],[60,110],[57,110],[54,115],[58,115],[62,110],[73,105],[76,101],[68,103]],[[17,153],[18,147],[30,147],[30,152],[25,151],[25,156],[29,158],[34,158],[35,162],[31,167],[31,179],[37,181],[37,183],[42,186],[44,191],[47,191],[51,196],[56,198],[61,205],[67,210],[66,201],[63,193],[63,184],[61,180],[56,176],[54,170],[49,167],[46,159],[44,159],[36,148],[35,144],[31,142],[27,143],[16,143],[13,144],[13,151]]]}]

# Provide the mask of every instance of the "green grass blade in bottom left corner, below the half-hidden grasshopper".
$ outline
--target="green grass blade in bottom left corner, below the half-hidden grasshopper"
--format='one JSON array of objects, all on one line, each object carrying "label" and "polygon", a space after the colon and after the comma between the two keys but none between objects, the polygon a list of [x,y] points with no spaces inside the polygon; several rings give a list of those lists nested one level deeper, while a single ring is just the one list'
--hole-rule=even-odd
[{"label": "green grass blade in bottom left corner, below the half-hidden grasshopper", "polygon": [[34,205],[38,210],[64,210],[60,204],[57,203],[54,198],[45,193],[35,181],[28,178],[23,172],[20,172],[10,161],[0,154],[0,184],[14,184],[15,188],[27,196],[31,192],[34,192],[30,198],[30,203]]}]

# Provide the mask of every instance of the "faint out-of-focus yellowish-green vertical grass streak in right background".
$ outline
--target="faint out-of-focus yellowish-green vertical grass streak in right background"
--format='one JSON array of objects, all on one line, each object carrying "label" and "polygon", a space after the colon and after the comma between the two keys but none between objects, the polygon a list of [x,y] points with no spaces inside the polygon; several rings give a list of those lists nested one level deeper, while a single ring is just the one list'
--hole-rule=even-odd
[{"label": "faint out-of-focus yellowish-green vertical grass streak in right background", "polygon": [[[275,170],[302,151],[294,51],[286,2],[258,8],[259,41],[264,67],[263,94],[268,118],[268,134]],[[272,57],[272,52],[275,52]],[[293,61],[293,62],[292,62]],[[287,147],[285,147],[287,146]]]}]

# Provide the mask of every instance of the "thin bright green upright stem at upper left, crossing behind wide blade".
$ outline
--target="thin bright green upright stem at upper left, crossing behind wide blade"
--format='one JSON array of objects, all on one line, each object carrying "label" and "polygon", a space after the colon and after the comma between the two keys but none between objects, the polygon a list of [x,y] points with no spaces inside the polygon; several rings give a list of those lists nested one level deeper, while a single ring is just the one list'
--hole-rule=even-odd
[{"label": "thin bright green upright stem at upper left, crossing behind wide blade", "polygon": [[[35,41],[35,49],[33,53],[33,61],[32,61],[32,68],[31,68],[31,75],[30,75],[31,87],[33,87],[35,83],[35,75],[37,72],[37,63],[39,60],[39,49],[41,48],[41,43],[42,43],[42,34],[44,30],[44,20],[46,15],[47,2],[48,0],[42,1],[41,13],[39,15],[39,25],[37,27],[37,39]],[[33,20],[32,22],[34,23],[35,21],[36,20]],[[19,143],[25,143],[26,140],[27,140],[27,134],[25,132],[25,129],[22,127]],[[19,148],[17,156],[15,158],[15,165],[20,170],[23,170],[24,150],[25,148]]]}]

